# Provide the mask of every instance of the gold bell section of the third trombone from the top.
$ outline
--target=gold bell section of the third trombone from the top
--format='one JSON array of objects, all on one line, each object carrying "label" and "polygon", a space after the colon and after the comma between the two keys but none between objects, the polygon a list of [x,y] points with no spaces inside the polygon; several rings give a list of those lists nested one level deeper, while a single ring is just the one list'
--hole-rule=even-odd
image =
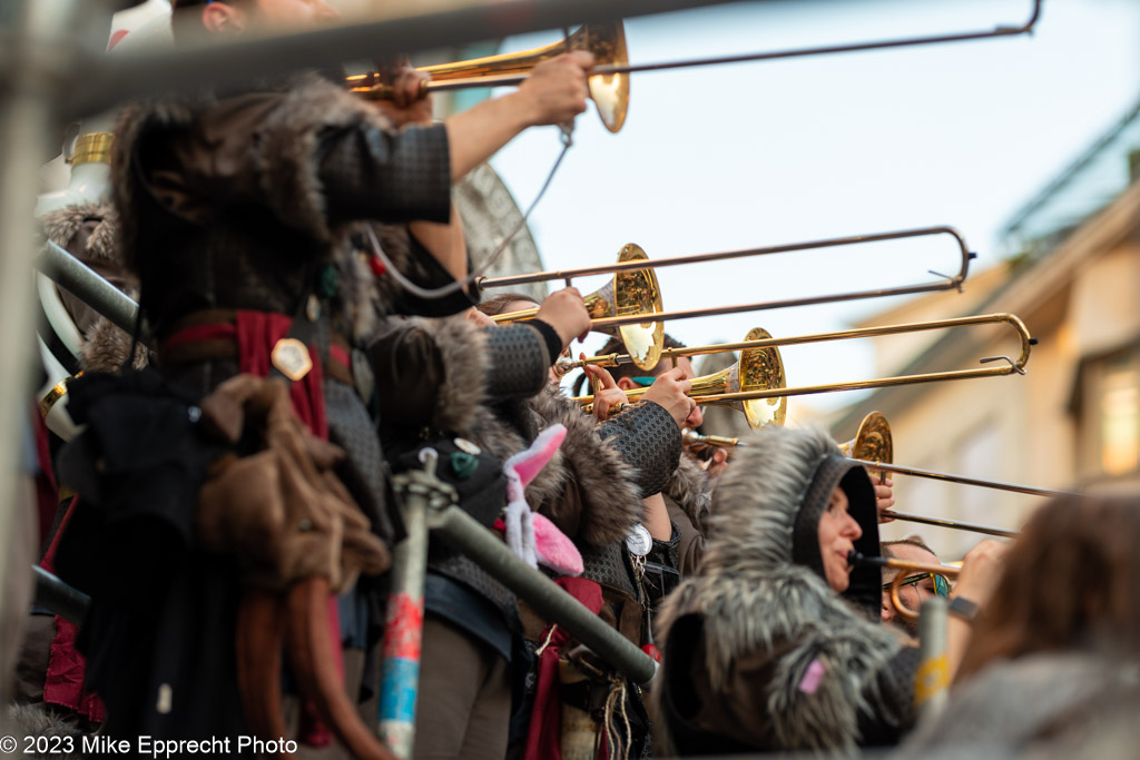
[{"label": "gold bell section of the third trombone from the top", "polygon": [[[749,343],[760,343],[765,338],[771,340],[771,335],[762,327],[754,327],[748,332]],[[748,348],[741,351],[740,361],[732,367],[722,369],[715,375],[694,377],[689,395],[695,398],[698,403],[723,406],[744,412],[748,425],[754,428],[765,425],[783,425],[788,412],[788,399],[772,397],[726,399],[726,397],[777,390],[782,389],[784,383],[783,361],[776,349],[771,346]],[[626,398],[633,401],[643,397],[648,391],[648,387],[626,391]],[[594,403],[594,397],[584,395],[575,401],[589,408]]]}]

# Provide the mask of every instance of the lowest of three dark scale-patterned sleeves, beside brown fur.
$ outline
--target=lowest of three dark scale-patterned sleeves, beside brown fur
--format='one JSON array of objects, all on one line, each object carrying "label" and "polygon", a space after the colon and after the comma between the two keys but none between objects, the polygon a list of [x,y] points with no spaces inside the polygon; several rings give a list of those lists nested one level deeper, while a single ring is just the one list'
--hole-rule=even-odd
[{"label": "lowest of three dark scale-patterned sleeves, beside brown fur", "polygon": [[681,459],[681,428],[663,407],[640,401],[598,425],[598,432],[637,471],[642,498],[665,489]]}]

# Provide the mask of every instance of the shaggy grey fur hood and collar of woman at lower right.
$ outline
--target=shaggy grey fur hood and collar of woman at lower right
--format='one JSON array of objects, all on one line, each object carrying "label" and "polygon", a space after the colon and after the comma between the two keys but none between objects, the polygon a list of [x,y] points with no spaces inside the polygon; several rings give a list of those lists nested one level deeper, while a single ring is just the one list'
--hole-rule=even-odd
[{"label": "shaggy grey fur hood and collar of woman at lower right", "polygon": [[[797,533],[816,533],[819,514],[809,525],[798,520],[805,502],[817,491],[830,495],[845,475],[823,431],[767,427],[754,435],[720,476],[699,573],[682,581],[658,616],[667,671],[674,623],[692,615],[702,621],[703,652],[693,656],[703,656],[714,692],[727,688],[741,659],[782,652],[759,685],[776,742],[767,749],[853,750],[860,712],[873,712],[877,702],[876,676],[901,646],[840,598],[820,570],[793,559]],[[878,531],[869,532],[864,538],[877,545]],[[805,689],[811,670],[822,676]]]}]

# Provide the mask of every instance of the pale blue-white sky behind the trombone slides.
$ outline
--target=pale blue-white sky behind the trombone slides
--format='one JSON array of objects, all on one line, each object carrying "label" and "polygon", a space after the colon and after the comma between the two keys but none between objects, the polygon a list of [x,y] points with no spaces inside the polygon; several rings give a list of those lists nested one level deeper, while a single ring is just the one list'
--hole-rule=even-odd
[{"label": "pale blue-white sky behind the trombone slides", "polygon": [[[759,2],[633,19],[630,58],[775,50],[1020,25],[1028,0]],[[504,50],[557,34],[508,40]],[[1032,36],[635,74],[610,134],[591,112],[531,216],[546,267],[952,224],[978,269],[1009,253],[1003,221],[1140,98],[1140,2],[1047,0]],[[520,205],[557,154],[531,130],[495,160]],[[663,269],[667,308],[929,281],[956,271],[948,238]],[[600,278],[579,284],[584,292]],[[969,287],[969,281],[967,281]],[[675,321],[689,344],[834,329],[897,299]],[[1032,326],[1031,326],[1032,327]],[[601,338],[587,342],[596,349]],[[787,349],[791,384],[871,371],[866,344]],[[1032,365],[1031,365],[1032,371]],[[992,381],[1000,382],[1000,381]],[[849,394],[808,398],[833,408]],[[790,418],[797,416],[797,402]]]}]

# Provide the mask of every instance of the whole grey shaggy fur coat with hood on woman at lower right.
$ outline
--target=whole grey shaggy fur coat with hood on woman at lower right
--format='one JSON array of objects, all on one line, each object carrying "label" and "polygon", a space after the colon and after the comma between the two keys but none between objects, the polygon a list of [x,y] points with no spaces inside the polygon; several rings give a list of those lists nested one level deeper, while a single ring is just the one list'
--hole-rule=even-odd
[{"label": "whole grey shaggy fur coat with hood on woman at lower right", "polygon": [[[820,483],[824,472],[830,480]],[[822,567],[800,558],[809,553],[797,537],[817,541],[822,513],[807,502],[820,496],[825,502],[846,476],[822,431],[772,427],[720,476],[699,573],[682,581],[658,616],[662,722],[679,752],[852,751],[868,727],[913,720],[913,671],[893,672],[899,641],[869,621],[870,611],[832,591]],[[862,481],[858,500],[870,514],[860,520],[866,544],[856,549],[877,555],[873,489],[865,473]],[[806,525],[805,509],[815,509]],[[719,714],[710,720],[709,711]],[[702,734],[714,743],[694,744]]]}]

